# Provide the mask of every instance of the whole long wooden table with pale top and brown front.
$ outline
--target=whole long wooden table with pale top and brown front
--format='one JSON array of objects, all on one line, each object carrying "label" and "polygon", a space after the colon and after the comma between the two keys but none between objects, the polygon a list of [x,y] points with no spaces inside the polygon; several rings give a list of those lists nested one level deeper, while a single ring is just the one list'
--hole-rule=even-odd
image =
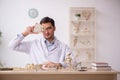
[{"label": "whole long wooden table with pale top and brown front", "polygon": [[117,80],[116,71],[0,71],[0,80]]}]

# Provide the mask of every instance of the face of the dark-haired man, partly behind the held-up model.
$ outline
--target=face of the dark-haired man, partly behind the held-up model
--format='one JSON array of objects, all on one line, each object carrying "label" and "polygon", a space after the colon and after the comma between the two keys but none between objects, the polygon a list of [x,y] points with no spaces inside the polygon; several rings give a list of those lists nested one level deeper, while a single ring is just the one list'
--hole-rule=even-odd
[{"label": "face of the dark-haired man, partly behind the held-up model", "polygon": [[42,31],[43,36],[47,39],[47,40],[51,40],[54,37],[54,31],[55,31],[55,27],[52,26],[51,23],[42,23],[41,24],[44,28],[44,31]]}]

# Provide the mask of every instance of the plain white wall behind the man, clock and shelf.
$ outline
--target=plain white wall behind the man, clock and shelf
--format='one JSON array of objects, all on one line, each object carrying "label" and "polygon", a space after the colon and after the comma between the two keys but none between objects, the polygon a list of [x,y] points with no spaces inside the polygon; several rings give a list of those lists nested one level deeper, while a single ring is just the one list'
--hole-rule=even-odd
[{"label": "plain white wall behind the man, clock and shelf", "polygon": [[[0,60],[4,66],[24,66],[27,55],[8,49],[9,41],[26,26],[42,17],[55,19],[56,36],[69,45],[69,8],[96,7],[96,60],[108,62],[120,71],[120,0],[0,0]],[[36,8],[39,16],[31,19],[28,10]],[[63,36],[64,35],[64,36]]]}]

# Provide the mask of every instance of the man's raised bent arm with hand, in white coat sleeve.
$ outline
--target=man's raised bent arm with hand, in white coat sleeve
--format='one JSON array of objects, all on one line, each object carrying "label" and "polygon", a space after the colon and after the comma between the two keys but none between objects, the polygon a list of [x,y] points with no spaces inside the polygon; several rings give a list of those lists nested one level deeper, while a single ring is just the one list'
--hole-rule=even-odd
[{"label": "man's raised bent arm with hand, in white coat sleeve", "polygon": [[10,41],[8,46],[12,50],[29,53],[32,42],[23,40],[27,35],[34,34],[33,29],[34,26],[27,27],[21,34],[17,34],[17,36]]}]

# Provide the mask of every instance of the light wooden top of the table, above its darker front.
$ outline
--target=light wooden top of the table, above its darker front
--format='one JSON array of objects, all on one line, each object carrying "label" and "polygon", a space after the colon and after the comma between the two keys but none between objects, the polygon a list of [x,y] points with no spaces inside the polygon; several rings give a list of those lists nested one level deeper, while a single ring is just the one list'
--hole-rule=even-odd
[{"label": "light wooden top of the table, above its darker front", "polygon": [[2,74],[117,74],[115,70],[110,71],[96,71],[93,69],[87,71],[77,71],[77,70],[6,70],[0,71]]}]

